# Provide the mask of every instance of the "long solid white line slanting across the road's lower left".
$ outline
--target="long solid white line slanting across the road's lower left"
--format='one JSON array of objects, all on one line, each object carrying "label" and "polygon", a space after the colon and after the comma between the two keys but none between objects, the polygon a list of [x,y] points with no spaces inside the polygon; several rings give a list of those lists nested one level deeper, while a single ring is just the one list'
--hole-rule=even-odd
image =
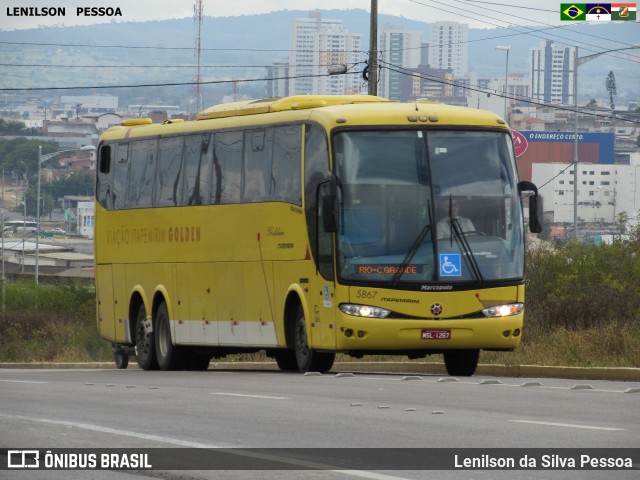
[{"label": "long solid white line slanting across the road's lower left", "polygon": [[120,430],[115,428],[103,427],[100,425],[92,425],[89,423],[78,423],[78,422],[67,422],[62,420],[51,420],[48,418],[37,418],[37,417],[27,417],[23,415],[9,415],[5,413],[0,413],[0,418],[9,418],[14,420],[26,420],[29,422],[38,422],[38,423],[46,423],[49,425],[62,425],[66,427],[76,427],[84,430],[90,430],[94,432],[101,433],[110,433],[113,435],[122,435],[125,437],[134,437],[142,440],[152,440],[154,442],[162,442],[168,443],[171,445],[178,445],[182,447],[191,447],[191,448],[226,448],[227,453],[238,455],[239,457],[252,457],[252,458],[260,458],[269,461],[276,461],[285,464],[292,465],[295,467],[303,467],[303,468],[311,468],[317,470],[325,470],[329,472],[335,472],[342,475],[349,475],[353,477],[367,478],[370,480],[405,480],[403,477],[396,477],[392,475],[385,475],[377,472],[368,472],[365,470],[338,470],[333,465],[325,465],[315,462],[309,462],[305,460],[296,460],[292,458],[279,457],[277,455],[269,455],[269,454],[261,454],[259,452],[251,452],[251,451],[243,451],[242,449],[238,449],[237,453],[234,450],[232,445],[223,445],[223,444],[206,444],[200,442],[190,442],[188,440],[180,440],[171,437],[164,437],[160,435],[149,435],[147,433],[133,432],[130,430]]}]

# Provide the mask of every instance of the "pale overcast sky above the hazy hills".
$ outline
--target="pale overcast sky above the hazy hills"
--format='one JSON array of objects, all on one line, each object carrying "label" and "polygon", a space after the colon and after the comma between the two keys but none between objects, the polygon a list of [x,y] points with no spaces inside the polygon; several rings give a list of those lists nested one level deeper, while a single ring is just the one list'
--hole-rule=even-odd
[{"label": "pale overcast sky above the hazy hills", "polygon": [[[566,1],[566,0],[563,0]],[[370,10],[371,0],[203,0],[204,15],[215,17],[267,13],[276,10]],[[141,22],[193,16],[195,0],[2,0],[0,29],[35,28],[39,25],[72,26],[110,22]],[[526,5],[526,6],[524,6]],[[119,7],[120,17],[78,17],[77,7]],[[65,7],[64,17],[16,16],[19,7]],[[536,0],[378,0],[378,12],[425,22],[457,21],[473,28],[494,28],[536,22],[558,25],[560,1]],[[570,22],[562,22],[570,23]]]}]

